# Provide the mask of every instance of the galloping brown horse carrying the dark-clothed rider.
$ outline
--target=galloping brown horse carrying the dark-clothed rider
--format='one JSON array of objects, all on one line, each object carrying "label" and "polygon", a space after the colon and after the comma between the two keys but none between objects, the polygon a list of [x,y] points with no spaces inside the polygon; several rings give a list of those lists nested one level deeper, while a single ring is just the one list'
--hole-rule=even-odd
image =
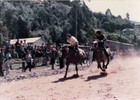
[{"label": "galloping brown horse carrying the dark-clothed rider", "polygon": [[[100,68],[103,72],[105,72],[105,70],[107,69],[107,66],[109,64],[109,59],[107,59],[107,56],[104,52],[103,47],[99,46],[99,42],[98,41],[94,41],[93,42],[93,49],[94,49],[94,53],[95,53],[95,59],[97,61],[98,64],[98,68]],[[110,48],[106,48],[107,53],[110,55]],[[102,66],[101,66],[102,63]],[[105,64],[106,63],[106,64]]]}]

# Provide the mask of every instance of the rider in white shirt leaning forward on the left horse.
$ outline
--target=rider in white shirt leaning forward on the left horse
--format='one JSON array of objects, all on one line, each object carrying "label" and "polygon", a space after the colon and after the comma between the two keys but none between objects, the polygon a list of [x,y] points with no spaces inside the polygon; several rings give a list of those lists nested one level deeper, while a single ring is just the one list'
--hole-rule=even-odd
[{"label": "rider in white shirt leaning forward on the left horse", "polygon": [[70,43],[70,49],[73,49],[75,50],[76,52],[79,52],[78,51],[78,40],[74,37],[74,36],[71,36],[70,34],[67,34],[67,42]]}]

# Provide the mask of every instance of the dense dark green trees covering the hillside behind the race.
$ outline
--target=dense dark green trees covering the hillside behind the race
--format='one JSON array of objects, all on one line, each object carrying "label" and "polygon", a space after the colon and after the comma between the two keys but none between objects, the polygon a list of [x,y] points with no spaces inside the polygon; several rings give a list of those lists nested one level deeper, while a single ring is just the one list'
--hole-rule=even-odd
[{"label": "dense dark green trees covering the hillside behind the race", "polygon": [[80,44],[88,44],[100,29],[110,40],[134,43],[136,37],[122,34],[133,28],[129,20],[94,13],[78,1],[59,2],[0,2],[0,42],[12,38],[41,36],[50,43],[66,43],[66,34],[76,36]]}]

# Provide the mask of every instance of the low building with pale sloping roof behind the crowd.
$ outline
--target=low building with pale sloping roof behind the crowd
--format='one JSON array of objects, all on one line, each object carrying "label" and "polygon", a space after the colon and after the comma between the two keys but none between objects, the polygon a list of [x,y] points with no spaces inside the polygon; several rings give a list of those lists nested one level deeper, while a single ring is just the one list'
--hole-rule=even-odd
[{"label": "low building with pale sloping roof behind the crowd", "polygon": [[[21,39],[19,39],[19,42],[20,42],[20,41],[24,42],[24,40],[26,40],[26,43],[27,43],[27,44],[32,44],[33,47],[34,47],[35,45],[41,46],[42,43],[44,43],[44,44],[46,43],[46,41],[45,41],[44,39],[42,39],[41,37],[21,38]],[[17,42],[17,39],[11,39],[11,40],[10,40],[10,43],[11,43],[11,44],[15,44],[16,42]]]}]

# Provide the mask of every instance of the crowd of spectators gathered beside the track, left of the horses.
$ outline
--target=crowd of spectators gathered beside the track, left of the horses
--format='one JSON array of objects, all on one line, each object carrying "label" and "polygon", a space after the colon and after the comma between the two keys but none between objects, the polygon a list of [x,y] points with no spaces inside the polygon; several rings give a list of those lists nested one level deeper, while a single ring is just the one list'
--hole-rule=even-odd
[{"label": "crowd of spectators gathered beside the track, left of the horses", "polygon": [[[11,44],[10,41],[6,42],[2,48],[0,48],[0,76],[8,74],[8,69],[12,69],[11,59],[22,59],[22,71],[25,72],[28,68],[31,71],[32,67],[35,67],[36,59],[43,57],[43,64],[52,66],[56,58],[61,56],[60,46],[54,47],[52,44],[35,45],[26,43],[26,40],[19,41],[17,39],[15,44]],[[26,65],[26,66],[25,66]],[[3,73],[5,71],[5,73]]]}]

